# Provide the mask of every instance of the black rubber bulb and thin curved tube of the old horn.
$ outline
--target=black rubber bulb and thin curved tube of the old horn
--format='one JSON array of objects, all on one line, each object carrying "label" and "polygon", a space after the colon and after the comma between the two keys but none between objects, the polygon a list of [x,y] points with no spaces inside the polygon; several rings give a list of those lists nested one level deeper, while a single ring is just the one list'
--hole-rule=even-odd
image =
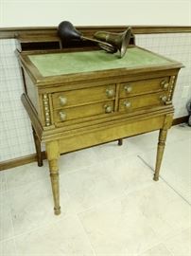
[{"label": "black rubber bulb and thin curved tube of the old horn", "polygon": [[112,46],[111,44],[109,44],[107,42],[101,42],[96,39],[84,37],[81,34],[81,32],[79,32],[72,25],[72,23],[70,23],[68,21],[61,22],[61,24],[58,27],[58,34],[61,37],[61,39],[66,42],[70,42],[70,41],[74,41],[74,40],[76,40],[76,41],[89,40],[89,41],[95,42],[96,44],[98,44],[100,47],[102,47],[104,50],[106,50],[108,52],[113,53],[113,52],[117,51],[117,48],[115,48],[114,46]]}]

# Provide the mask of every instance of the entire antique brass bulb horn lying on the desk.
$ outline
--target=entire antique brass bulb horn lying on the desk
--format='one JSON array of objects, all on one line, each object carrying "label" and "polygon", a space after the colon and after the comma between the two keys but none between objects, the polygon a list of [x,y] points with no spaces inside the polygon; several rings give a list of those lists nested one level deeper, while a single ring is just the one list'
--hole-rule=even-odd
[{"label": "entire antique brass bulb horn lying on the desk", "polygon": [[102,49],[107,52],[114,53],[117,50],[120,52],[120,57],[122,58],[127,50],[130,43],[131,30],[130,27],[123,33],[110,33],[110,32],[96,32],[94,38],[84,37],[81,32],[79,32],[72,23],[68,21],[63,21],[58,27],[58,34],[61,40],[65,42],[71,41],[92,41],[98,44]]}]

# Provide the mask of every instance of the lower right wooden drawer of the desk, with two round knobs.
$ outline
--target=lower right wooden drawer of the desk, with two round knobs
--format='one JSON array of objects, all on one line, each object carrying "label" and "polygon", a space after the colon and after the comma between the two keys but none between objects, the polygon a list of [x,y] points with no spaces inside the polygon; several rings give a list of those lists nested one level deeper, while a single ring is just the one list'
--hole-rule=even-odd
[{"label": "lower right wooden drawer of the desk, with two round knobs", "polygon": [[130,97],[119,101],[119,111],[129,112],[138,108],[163,105],[166,100],[167,94],[164,92]]}]

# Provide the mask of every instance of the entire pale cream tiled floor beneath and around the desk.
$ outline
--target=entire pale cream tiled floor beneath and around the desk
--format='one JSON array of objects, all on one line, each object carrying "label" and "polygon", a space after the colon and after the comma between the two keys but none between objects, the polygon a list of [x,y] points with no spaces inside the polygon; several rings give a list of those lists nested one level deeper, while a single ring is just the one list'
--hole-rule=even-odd
[{"label": "entire pale cream tiled floor beneath and around the desk", "polygon": [[190,256],[191,128],[171,128],[155,182],[157,139],[62,155],[60,216],[46,161],[0,172],[0,255]]}]

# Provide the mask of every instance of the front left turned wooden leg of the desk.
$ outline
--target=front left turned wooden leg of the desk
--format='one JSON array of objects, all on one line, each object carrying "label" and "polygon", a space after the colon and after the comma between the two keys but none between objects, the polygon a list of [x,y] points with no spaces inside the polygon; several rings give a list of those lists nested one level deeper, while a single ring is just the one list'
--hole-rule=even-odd
[{"label": "front left turned wooden leg of the desk", "polygon": [[46,143],[46,154],[50,169],[50,179],[54,199],[54,211],[56,215],[61,214],[60,207],[60,186],[59,186],[59,166],[58,159],[60,156],[59,145],[57,141]]}]

